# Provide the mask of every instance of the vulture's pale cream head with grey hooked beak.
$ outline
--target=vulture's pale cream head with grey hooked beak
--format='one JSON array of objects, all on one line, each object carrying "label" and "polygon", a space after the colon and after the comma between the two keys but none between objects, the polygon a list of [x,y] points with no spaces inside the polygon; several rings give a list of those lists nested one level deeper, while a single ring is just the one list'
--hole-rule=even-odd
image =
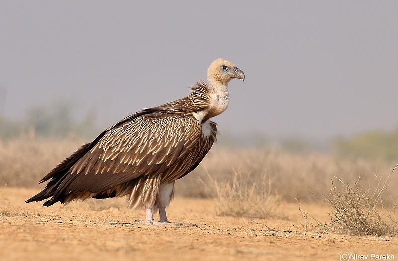
[{"label": "vulture's pale cream head with grey hooked beak", "polygon": [[207,78],[211,85],[226,85],[234,78],[244,81],[245,74],[232,62],[219,58],[208,67]]}]

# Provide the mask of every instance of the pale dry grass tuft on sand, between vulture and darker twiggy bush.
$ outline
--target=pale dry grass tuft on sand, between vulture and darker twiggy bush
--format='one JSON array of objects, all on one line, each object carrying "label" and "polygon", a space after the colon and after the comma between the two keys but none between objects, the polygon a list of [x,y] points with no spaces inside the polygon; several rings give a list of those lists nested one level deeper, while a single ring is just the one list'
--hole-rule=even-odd
[{"label": "pale dry grass tuft on sand, between vulture and darker twiggy bush", "polygon": [[235,172],[232,184],[213,180],[217,192],[215,212],[218,216],[267,218],[276,216],[281,198],[272,191],[265,173],[261,186],[250,181],[250,173]]}]

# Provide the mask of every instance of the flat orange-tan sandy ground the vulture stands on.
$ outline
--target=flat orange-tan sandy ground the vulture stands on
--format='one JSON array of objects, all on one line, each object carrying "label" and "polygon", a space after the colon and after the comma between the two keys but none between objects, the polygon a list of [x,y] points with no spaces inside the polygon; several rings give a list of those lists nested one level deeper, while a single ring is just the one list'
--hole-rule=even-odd
[{"label": "flat orange-tan sandy ground the vulture stands on", "polygon": [[[0,189],[1,260],[340,260],[346,254],[398,260],[398,237],[303,231],[297,204],[283,205],[280,218],[249,220],[216,216],[212,200],[176,198],[169,220],[199,227],[162,227],[133,224],[144,211],[126,209],[122,199],[23,203],[37,192]],[[324,206],[301,207],[327,218]]]}]

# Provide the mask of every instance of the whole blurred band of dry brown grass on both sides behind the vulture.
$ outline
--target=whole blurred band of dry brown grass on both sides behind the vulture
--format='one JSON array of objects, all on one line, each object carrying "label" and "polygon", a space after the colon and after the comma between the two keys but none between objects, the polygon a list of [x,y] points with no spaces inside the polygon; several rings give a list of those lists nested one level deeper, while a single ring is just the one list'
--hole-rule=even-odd
[{"label": "whole blurred band of dry brown grass on both sides behind the vulture", "polygon": [[[44,139],[27,136],[0,140],[0,186],[43,188],[37,182],[82,143],[76,138]],[[314,202],[328,193],[330,178],[352,180],[361,175],[364,186],[376,187],[372,173],[388,173],[393,166],[382,161],[343,161],[329,154],[291,154],[275,149],[225,149],[215,145],[203,162],[176,182],[176,195],[218,198],[220,189],[247,195],[267,195],[264,173],[286,202]],[[235,171],[240,173],[236,183]],[[210,178],[211,177],[211,178]],[[246,182],[246,183],[242,183]],[[218,191],[217,186],[218,184]],[[234,185],[235,184],[235,185]],[[237,187],[237,184],[239,187]],[[255,185],[255,186],[254,186]],[[228,188],[229,186],[229,188]],[[258,194],[258,191],[262,191]],[[256,192],[257,191],[257,192]],[[391,177],[390,191],[398,198],[398,178]],[[238,196],[240,197],[240,196]]]}]

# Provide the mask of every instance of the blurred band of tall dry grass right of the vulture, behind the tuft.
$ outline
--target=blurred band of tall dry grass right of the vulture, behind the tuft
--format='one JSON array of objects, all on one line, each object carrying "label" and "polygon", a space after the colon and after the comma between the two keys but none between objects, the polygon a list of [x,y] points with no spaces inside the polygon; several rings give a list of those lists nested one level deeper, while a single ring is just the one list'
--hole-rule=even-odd
[{"label": "blurred band of tall dry grass right of the vulture, behind the tuft", "polygon": [[[329,192],[330,178],[352,180],[376,187],[373,173],[387,173],[392,164],[381,161],[342,161],[330,154],[290,154],[269,149],[223,149],[215,146],[203,162],[176,182],[176,193],[184,197],[217,197],[214,181],[233,185],[234,170],[243,172],[250,184],[261,187],[263,175],[286,202],[321,202],[315,195]],[[250,173],[250,175],[248,174]],[[209,176],[211,178],[209,178]],[[391,177],[392,196],[398,198],[398,178]],[[204,185],[203,185],[204,184]]]}]

